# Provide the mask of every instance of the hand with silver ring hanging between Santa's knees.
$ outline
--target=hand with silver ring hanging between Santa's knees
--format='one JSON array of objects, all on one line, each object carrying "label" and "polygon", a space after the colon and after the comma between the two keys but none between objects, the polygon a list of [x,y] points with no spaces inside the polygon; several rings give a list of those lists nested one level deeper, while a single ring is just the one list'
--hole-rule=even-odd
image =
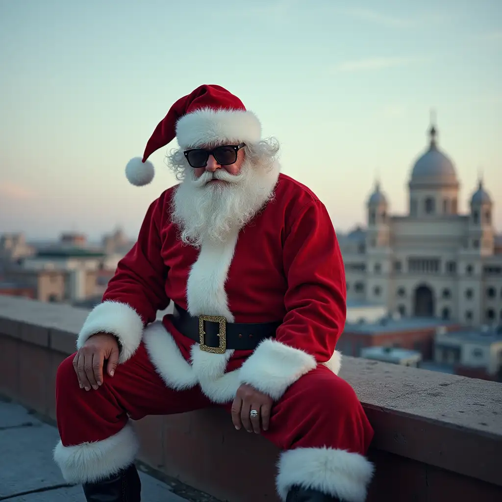
[{"label": "hand with silver ring hanging between Santa's knees", "polygon": [[[242,426],[247,432],[260,434],[260,419],[263,430],[269,429],[270,411],[273,400],[250,385],[242,384],[235,394],[232,403],[232,422],[237,430]],[[256,410],[258,416],[250,416],[250,411]]]}]

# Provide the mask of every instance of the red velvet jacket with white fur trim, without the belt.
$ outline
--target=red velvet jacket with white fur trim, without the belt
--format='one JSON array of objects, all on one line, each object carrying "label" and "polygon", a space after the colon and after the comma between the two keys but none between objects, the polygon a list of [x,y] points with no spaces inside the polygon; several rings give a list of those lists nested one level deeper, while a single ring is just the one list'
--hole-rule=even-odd
[{"label": "red velvet jacket with white fur trim, without the belt", "polygon": [[[137,243],[119,262],[103,303],[89,314],[78,346],[93,333],[111,332],[121,342],[124,362],[143,340],[168,385],[199,384],[215,402],[233,399],[241,383],[278,399],[318,363],[338,372],[335,345],[345,323],[345,276],[322,202],[280,174],[275,197],[252,222],[224,243],[195,249],[178,238],[171,222],[175,189],[151,204]],[[254,351],[211,354],[180,334],[170,316],[154,322],[170,301],[195,316],[283,323],[275,340]]]}]

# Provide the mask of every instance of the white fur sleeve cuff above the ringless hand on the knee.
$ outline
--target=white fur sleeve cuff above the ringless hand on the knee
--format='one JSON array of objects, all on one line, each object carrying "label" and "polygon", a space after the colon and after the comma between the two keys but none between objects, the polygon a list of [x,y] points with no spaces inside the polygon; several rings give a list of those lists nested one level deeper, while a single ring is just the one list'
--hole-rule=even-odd
[{"label": "white fur sleeve cuff above the ringless hand on the knee", "polygon": [[121,345],[119,363],[127,361],[140,346],[143,334],[143,321],[136,310],[115,301],[106,301],[96,305],[87,316],[77,338],[77,349],[87,339],[99,332],[115,335]]}]

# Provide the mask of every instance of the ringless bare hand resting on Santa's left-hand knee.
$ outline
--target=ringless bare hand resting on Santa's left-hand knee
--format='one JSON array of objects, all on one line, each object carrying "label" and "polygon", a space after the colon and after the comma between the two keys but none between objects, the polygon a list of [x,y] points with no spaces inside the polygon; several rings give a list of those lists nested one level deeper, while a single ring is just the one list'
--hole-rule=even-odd
[{"label": "ringless bare hand resting on Santa's left-hand knee", "polygon": [[77,373],[80,389],[97,390],[103,383],[103,363],[107,359],[107,372],[113,376],[118,364],[117,339],[109,333],[90,336],[73,358],[73,368]]}]

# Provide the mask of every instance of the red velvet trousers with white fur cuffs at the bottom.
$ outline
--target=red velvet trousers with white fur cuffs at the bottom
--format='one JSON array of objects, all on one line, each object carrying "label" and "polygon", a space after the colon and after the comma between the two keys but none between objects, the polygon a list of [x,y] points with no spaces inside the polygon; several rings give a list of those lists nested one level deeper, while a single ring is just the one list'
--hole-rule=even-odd
[{"label": "red velvet trousers with white fur cuffs at the bottom", "polygon": [[[129,417],[139,420],[146,415],[217,406],[199,386],[186,391],[166,387],[143,343],[133,357],[117,366],[113,377],[103,371],[103,384],[96,391],[80,389],[73,358],[65,359],[57,372],[56,415],[61,442],[55,450],[63,474],[73,481],[98,479],[122,467],[126,458],[131,461],[128,455],[137,445],[124,452],[129,448],[126,443],[133,441],[131,431],[127,435],[123,432],[129,430]],[[219,406],[229,412],[231,422],[231,402]],[[372,467],[364,455],[373,431],[353,389],[327,367],[317,366],[287,389],[274,404],[269,430],[262,435],[290,454],[281,458],[279,465],[278,490],[283,498],[294,483],[315,487],[316,476],[334,476],[333,482],[322,478],[317,484],[329,487],[334,483],[333,494],[345,494],[354,502],[363,500],[351,483],[360,478],[365,493]],[[321,465],[327,466],[324,474],[319,473]],[[346,480],[344,472],[350,467],[354,473]],[[347,483],[348,491],[343,491]]]}]

